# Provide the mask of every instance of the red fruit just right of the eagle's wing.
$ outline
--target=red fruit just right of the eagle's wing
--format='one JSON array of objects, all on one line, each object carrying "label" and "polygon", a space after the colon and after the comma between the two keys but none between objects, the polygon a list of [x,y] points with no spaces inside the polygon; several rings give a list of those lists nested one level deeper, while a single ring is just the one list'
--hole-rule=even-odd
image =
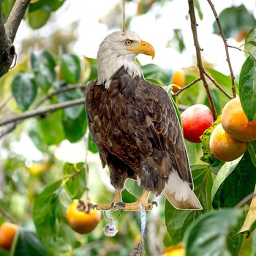
[{"label": "red fruit just right of the eagle's wing", "polygon": [[181,113],[181,123],[184,138],[199,143],[200,136],[213,124],[211,110],[203,104],[192,105]]}]

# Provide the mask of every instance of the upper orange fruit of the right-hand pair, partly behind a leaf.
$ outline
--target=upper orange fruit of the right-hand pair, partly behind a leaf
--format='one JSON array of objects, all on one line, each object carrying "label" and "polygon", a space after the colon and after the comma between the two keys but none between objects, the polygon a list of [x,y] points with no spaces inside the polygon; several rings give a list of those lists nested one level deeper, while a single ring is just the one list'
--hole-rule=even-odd
[{"label": "upper orange fruit of the right-hand pair, partly behind a leaf", "polygon": [[223,108],[222,127],[236,140],[256,140],[256,120],[248,121],[239,97],[231,99]]}]

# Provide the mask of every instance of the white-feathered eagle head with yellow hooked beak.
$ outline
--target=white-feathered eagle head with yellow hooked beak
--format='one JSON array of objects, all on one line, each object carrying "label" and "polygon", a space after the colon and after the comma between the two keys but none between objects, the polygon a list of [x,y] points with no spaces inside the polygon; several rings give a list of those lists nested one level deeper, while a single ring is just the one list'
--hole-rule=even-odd
[{"label": "white-feathered eagle head with yellow hooked beak", "polygon": [[141,40],[137,33],[126,31],[123,35],[121,31],[116,31],[109,34],[99,45],[97,53],[97,84],[104,83],[105,88],[108,89],[111,77],[122,66],[132,77],[137,75],[142,77],[141,69],[135,62],[139,53],[154,58],[153,46]]}]

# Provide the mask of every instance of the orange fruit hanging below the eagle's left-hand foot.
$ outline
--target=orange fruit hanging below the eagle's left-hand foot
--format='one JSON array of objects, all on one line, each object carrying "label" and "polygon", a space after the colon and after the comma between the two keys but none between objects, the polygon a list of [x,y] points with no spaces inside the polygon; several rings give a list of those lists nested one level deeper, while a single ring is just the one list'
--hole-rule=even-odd
[{"label": "orange fruit hanging below the eagle's left-hand foot", "polygon": [[87,234],[99,224],[100,211],[91,209],[91,201],[88,201],[89,211],[86,211],[86,200],[75,200],[67,208],[66,219],[72,230],[80,234]]}]

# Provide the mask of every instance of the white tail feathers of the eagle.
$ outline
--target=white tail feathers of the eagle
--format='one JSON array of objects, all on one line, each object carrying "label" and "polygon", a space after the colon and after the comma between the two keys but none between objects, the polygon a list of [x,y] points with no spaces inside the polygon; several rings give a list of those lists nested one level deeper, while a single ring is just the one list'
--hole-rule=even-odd
[{"label": "white tail feathers of the eagle", "polygon": [[177,209],[201,210],[202,206],[197,196],[192,192],[187,181],[182,181],[176,171],[171,172],[169,181],[165,184],[163,194]]}]

